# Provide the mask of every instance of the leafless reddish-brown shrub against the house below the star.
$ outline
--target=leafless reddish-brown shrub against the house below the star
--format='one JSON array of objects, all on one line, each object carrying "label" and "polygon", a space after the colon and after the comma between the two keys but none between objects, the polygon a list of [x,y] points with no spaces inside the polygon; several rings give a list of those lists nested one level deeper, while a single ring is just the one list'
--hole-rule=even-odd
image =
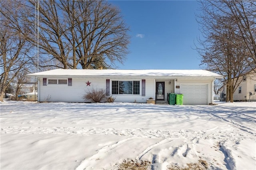
[{"label": "leafless reddish-brown shrub against the house below the star", "polygon": [[107,99],[106,91],[104,89],[91,89],[83,97],[84,100],[91,102],[105,102]]}]

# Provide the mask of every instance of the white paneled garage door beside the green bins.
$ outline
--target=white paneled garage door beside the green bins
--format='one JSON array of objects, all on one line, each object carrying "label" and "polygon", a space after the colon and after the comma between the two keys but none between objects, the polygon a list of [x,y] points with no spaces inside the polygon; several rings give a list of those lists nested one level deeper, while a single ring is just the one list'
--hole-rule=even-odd
[{"label": "white paneled garage door beside the green bins", "polygon": [[181,84],[180,92],[183,96],[184,105],[207,105],[207,84]]}]

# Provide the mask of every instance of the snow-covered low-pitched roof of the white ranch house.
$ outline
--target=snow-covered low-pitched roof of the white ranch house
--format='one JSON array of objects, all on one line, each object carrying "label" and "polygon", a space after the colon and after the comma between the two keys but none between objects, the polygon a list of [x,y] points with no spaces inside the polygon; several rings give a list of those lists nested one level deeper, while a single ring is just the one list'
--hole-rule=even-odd
[{"label": "snow-covered low-pitched roof of the white ranch house", "polygon": [[118,69],[54,69],[38,73],[28,74],[28,76],[200,76],[200,77],[223,77],[222,75],[207,70],[118,70]]}]

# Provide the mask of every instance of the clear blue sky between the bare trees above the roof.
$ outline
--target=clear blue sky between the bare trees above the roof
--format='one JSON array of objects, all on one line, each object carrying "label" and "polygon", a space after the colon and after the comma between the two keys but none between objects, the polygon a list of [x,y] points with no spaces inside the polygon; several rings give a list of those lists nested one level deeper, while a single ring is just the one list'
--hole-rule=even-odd
[{"label": "clear blue sky between the bare trees above the roof", "polygon": [[129,51],[119,69],[200,69],[197,1],[114,0],[130,26]]}]

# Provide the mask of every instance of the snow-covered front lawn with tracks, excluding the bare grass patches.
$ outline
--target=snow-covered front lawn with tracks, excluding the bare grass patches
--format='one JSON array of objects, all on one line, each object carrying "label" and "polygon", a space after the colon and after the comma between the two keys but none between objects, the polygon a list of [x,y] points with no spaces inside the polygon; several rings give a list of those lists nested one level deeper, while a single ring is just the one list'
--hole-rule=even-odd
[{"label": "snow-covered front lawn with tracks, excluding the bare grass patches", "polygon": [[205,160],[256,169],[256,102],[218,105],[0,103],[1,170],[154,170]]}]

